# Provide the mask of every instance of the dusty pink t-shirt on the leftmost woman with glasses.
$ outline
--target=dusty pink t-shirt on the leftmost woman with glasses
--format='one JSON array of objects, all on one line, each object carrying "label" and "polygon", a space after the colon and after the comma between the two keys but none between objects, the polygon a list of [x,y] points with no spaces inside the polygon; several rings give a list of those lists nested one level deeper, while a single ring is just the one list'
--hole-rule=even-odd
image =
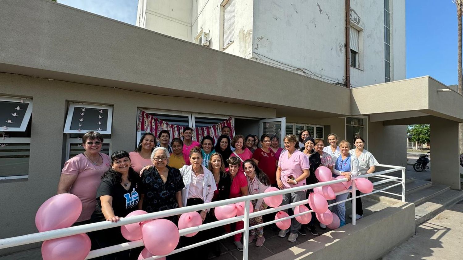
[{"label": "dusty pink t-shirt on the leftmost woman with glasses", "polygon": [[96,190],[100,186],[101,175],[109,169],[111,160],[100,153],[101,165],[94,165],[85,155],[78,154],[64,163],[62,174],[77,175],[69,193],[76,195],[82,202],[82,212],[76,222],[90,219],[96,206]]}]

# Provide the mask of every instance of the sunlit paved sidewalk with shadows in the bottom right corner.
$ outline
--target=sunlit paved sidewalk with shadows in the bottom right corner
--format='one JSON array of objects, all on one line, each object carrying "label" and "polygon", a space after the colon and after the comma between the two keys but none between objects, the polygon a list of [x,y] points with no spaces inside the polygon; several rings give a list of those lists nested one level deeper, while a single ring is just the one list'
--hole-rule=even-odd
[{"label": "sunlit paved sidewalk with shadows in the bottom right corner", "polygon": [[457,260],[463,254],[463,201],[416,227],[408,239],[382,260]]}]

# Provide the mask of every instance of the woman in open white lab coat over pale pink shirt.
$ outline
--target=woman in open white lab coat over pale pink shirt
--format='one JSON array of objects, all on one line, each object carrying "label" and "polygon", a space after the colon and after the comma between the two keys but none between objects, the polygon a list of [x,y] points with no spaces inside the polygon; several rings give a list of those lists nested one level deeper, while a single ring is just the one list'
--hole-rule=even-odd
[{"label": "woman in open white lab coat over pale pink shirt", "polygon": [[[196,146],[190,150],[191,165],[184,165],[180,169],[185,188],[181,191],[183,206],[193,206],[212,201],[215,185],[214,175],[202,165],[201,149]],[[200,216],[203,224],[209,222],[208,212],[210,209],[201,210]],[[209,238],[210,231],[200,231],[192,237],[182,236],[182,246],[191,245]],[[194,255],[197,259],[207,259],[209,248],[207,245],[187,250],[185,256]]]}]

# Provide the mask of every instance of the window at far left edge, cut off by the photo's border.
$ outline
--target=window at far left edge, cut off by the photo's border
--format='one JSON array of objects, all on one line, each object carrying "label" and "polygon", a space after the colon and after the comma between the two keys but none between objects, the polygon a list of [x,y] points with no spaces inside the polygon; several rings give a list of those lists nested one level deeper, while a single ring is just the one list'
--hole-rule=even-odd
[{"label": "window at far left edge, cut off by the photo's border", "polygon": [[29,176],[32,100],[0,97],[0,180]]}]

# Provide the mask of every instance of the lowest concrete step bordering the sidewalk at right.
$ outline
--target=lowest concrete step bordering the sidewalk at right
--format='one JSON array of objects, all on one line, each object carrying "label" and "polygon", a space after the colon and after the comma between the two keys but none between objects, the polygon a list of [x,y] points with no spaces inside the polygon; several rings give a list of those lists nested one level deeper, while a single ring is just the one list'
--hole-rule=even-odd
[{"label": "lowest concrete step bordering the sidewalk at right", "polygon": [[446,190],[432,199],[415,207],[415,223],[422,224],[437,216],[440,212],[463,200],[463,191]]}]

